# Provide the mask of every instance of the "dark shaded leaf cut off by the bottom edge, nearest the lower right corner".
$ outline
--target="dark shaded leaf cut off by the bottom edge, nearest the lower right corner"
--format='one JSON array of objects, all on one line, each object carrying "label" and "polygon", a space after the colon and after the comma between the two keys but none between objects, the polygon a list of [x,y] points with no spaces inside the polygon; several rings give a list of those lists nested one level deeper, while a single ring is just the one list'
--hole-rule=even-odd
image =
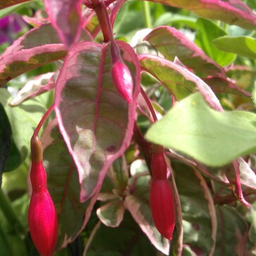
[{"label": "dark shaded leaf cut off by the bottom edge, nearest the lower right corner", "polygon": [[248,225],[237,210],[228,205],[217,206],[217,243],[214,256],[245,255]]}]

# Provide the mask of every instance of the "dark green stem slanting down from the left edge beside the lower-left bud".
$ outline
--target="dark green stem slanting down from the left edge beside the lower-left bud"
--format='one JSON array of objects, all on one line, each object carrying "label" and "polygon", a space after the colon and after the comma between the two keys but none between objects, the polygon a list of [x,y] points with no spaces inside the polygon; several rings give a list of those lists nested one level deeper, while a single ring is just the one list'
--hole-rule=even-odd
[{"label": "dark green stem slanting down from the left edge beside the lower-left bud", "polygon": [[11,226],[14,226],[16,231],[25,233],[25,228],[21,224],[20,219],[18,219],[16,212],[14,212],[13,207],[11,206],[10,200],[4,194],[3,190],[0,190],[0,202],[0,208],[2,209],[4,216],[8,220],[8,223]]}]

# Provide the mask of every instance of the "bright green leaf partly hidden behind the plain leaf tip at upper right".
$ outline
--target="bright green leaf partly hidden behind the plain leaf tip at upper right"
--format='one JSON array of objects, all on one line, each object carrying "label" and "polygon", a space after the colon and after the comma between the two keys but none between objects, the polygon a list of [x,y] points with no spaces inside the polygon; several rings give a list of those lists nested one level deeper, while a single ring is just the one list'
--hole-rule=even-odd
[{"label": "bright green leaf partly hidden behind the plain leaf tip at upper right", "polygon": [[212,41],[217,37],[223,37],[226,32],[219,28],[211,20],[204,18],[197,19],[197,30],[195,35],[196,44],[214,61],[217,61],[220,66],[227,66],[236,59],[235,54],[230,54],[225,51],[220,51]]}]

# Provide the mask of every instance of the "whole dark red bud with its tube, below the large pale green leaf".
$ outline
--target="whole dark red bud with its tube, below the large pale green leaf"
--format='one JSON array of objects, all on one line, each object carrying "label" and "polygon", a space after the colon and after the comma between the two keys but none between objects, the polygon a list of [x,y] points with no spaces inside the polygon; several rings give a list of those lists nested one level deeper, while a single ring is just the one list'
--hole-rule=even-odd
[{"label": "whole dark red bud with its tube, below the large pale green leaf", "polygon": [[175,207],[173,191],[167,178],[164,149],[160,146],[153,147],[151,169],[150,207],[154,225],[162,236],[171,240],[175,226]]}]

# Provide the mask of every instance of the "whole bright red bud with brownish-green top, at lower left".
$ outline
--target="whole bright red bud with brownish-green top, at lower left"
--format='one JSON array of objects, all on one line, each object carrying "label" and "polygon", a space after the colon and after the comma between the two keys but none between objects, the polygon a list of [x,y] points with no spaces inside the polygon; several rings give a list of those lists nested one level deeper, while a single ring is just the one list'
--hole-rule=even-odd
[{"label": "whole bright red bud with brownish-green top, at lower left", "polygon": [[47,190],[47,175],[42,164],[42,145],[38,138],[31,140],[32,196],[28,209],[28,225],[35,247],[42,256],[52,256],[58,238],[58,219],[54,202]]}]

